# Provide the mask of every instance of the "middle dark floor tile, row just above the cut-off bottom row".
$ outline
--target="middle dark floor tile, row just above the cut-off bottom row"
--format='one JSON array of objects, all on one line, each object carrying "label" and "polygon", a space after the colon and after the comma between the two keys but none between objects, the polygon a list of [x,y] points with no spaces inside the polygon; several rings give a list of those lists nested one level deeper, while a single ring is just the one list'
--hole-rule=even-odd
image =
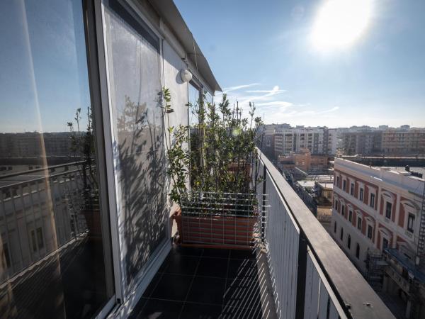
[{"label": "middle dark floor tile, row just above the cut-off bottom row", "polygon": [[187,301],[222,305],[226,279],[195,276]]}]

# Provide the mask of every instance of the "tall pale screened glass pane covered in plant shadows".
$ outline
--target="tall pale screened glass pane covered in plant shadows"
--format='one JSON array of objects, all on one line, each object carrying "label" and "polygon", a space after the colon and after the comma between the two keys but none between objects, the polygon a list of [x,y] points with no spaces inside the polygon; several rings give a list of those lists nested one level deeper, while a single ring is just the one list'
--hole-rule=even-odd
[{"label": "tall pale screened glass pane covered in plant shadows", "polygon": [[109,1],[105,19],[121,250],[130,285],[166,239],[161,59],[159,41],[130,9]]}]

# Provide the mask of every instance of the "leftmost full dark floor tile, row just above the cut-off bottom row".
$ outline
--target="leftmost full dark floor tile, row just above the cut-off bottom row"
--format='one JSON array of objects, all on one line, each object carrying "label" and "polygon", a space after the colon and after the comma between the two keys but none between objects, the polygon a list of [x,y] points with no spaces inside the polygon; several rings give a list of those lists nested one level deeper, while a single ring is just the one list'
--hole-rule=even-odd
[{"label": "leftmost full dark floor tile, row just above the cut-off bottom row", "polygon": [[150,298],[184,301],[192,278],[192,276],[163,274]]}]

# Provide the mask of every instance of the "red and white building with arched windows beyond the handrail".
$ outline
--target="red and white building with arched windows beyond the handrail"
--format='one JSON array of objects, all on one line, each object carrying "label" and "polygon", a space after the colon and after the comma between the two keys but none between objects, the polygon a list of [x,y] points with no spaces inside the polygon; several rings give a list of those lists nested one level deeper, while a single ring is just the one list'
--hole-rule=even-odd
[{"label": "red and white building with arched windows beyond the handrail", "polygon": [[382,291],[401,296],[406,318],[425,314],[419,306],[425,300],[424,184],[404,167],[334,162],[331,235],[366,278],[387,260]]}]

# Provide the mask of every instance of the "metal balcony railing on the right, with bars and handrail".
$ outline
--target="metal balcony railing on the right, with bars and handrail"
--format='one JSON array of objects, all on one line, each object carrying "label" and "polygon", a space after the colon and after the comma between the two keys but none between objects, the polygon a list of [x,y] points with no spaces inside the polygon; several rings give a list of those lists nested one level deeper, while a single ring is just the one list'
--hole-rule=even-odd
[{"label": "metal balcony railing on the right, with bars and handrail", "polygon": [[394,318],[363,276],[261,155],[259,201],[268,194],[265,242],[280,318]]}]

